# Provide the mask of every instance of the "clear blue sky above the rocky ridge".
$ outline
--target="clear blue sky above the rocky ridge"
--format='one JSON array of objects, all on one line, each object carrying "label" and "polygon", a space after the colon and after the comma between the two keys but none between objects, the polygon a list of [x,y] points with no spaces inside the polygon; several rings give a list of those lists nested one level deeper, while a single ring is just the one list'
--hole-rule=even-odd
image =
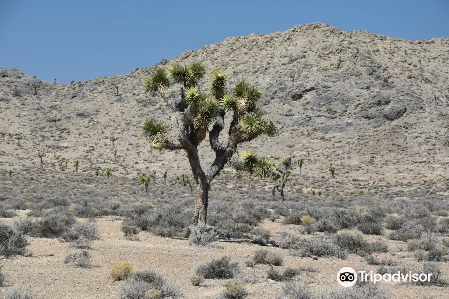
[{"label": "clear blue sky above the rocky ridge", "polygon": [[0,0],[0,66],[58,83],[124,74],[228,36],[311,22],[449,37],[449,0]]}]

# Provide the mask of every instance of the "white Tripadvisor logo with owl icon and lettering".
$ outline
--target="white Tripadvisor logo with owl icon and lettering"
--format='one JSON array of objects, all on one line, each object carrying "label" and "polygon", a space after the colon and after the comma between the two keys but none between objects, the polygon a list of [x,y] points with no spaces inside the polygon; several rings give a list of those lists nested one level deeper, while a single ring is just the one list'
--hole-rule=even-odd
[{"label": "white Tripadvisor logo with owl icon and lettering", "polygon": [[337,282],[343,287],[351,287],[360,282],[372,282],[373,284],[384,282],[430,282],[432,273],[412,273],[412,271],[402,273],[373,273],[373,271],[355,271],[351,267],[343,267],[337,273]]}]

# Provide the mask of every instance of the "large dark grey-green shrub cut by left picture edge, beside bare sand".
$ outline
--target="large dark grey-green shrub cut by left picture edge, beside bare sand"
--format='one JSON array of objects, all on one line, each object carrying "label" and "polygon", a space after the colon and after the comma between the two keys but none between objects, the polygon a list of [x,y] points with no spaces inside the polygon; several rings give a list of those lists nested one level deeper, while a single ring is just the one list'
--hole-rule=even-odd
[{"label": "large dark grey-green shrub cut by left picture edge, beside bare sand", "polygon": [[26,254],[29,245],[25,236],[12,227],[0,223],[0,255],[6,257]]}]

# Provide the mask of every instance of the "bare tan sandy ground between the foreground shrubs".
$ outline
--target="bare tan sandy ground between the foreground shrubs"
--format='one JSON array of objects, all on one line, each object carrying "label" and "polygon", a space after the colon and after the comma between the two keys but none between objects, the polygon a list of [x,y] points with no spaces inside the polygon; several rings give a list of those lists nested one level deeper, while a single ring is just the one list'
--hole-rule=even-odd
[{"label": "bare tan sandy ground between the foreground shrubs", "polygon": [[[5,220],[5,219],[3,219]],[[222,280],[205,280],[201,286],[192,286],[190,277],[195,269],[212,259],[231,256],[239,261],[245,274],[251,279],[247,284],[249,299],[274,298],[281,291],[282,283],[266,278],[266,265],[246,267],[244,261],[259,245],[245,242],[220,241],[213,247],[202,248],[188,244],[185,239],[170,239],[152,236],[147,232],[139,234],[140,241],[125,240],[120,231],[121,220],[107,217],[98,220],[101,240],[94,241],[94,249],[89,250],[92,268],[77,268],[64,264],[64,257],[72,250],[68,243],[57,239],[30,238],[31,257],[16,257],[3,260],[6,275],[5,287],[0,294],[12,286],[26,287],[37,299],[110,299],[114,298],[120,282],[113,281],[109,270],[115,263],[129,262],[135,269],[152,268],[175,283],[186,299],[215,299],[222,292]],[[272,232],[295,232],[294,226],[265,222]],[[396,242],[391,242],[394,249]],[[355,269],[370,269],[363,258],[349,255],[347,260],[320,258],[299,258],[288,255],[287,250],[269,248],[284,254],[285,266],[315,268],[316,272],[301,272],[299,279],[307,282],[314,290],[341,288],[336,281],[336,273],[345,266]],[[386,255],[392,255],[388,253]],[[403,263],[410,265],[413,260],[409,253],[396,253]],[[407,260],[407,261],[406,261]],[[409,261],[410,260],[410,261]],[[449,265],[443,265],[443,273],[449,273]],[[375,267],[375,266],[374,266]],[[382,283],[395,299],[449,298],[449,288],[418,287],[411,284]]]}]

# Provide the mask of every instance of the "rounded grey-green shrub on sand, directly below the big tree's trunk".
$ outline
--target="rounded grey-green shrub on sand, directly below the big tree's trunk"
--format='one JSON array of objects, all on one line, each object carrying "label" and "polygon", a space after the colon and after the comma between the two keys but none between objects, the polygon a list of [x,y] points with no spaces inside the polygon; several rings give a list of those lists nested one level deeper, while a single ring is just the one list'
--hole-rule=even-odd
[{"label": "rounded grey-green shrub on sand, directly below the big tree's trunk", "polygon": [[230,257],[223,257],[199,266],[196,274],[203,278],[233,278],[238,270],[238,262],[231,262]]}]

